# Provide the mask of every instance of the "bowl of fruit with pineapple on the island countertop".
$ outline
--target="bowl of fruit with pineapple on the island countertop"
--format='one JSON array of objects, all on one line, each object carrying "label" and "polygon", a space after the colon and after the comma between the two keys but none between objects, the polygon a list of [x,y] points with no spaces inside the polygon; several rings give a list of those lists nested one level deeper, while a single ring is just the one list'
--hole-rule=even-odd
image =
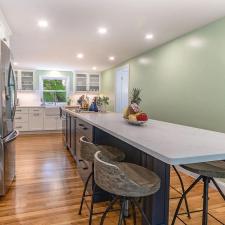
[{"label": "bowl of fruit with pineapple on the island countertop", "polygon": [[139,104],[141,103],[140,98],[141,90],[134,88],[131,94],[131,103],[124,110],[123,117],[128,123],[136,126],[141,126],[148,121],[148,115],[141,111]]}]

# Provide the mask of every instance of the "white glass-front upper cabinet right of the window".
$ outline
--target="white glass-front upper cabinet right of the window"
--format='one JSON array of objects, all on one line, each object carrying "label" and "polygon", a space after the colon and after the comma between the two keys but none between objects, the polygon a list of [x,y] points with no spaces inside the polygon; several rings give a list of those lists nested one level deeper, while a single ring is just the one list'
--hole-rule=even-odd
[{"label": "white glass-front upper cabinet right of the window", "polygon": [[100,90],[100,74],[77,73],[75,80],[76,92],[96,92]]}]

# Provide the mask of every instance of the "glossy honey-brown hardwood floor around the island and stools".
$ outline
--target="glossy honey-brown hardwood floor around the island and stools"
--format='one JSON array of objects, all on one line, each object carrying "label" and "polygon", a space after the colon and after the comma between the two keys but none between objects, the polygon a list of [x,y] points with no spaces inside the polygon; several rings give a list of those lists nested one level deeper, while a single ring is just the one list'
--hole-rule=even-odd
[{"label": "glossy honey-brown hardwood floor around the island and stools", "polygon": [[[21,136],[16,142],[16,181],[9,193],[0,198],[0,224],[20,225],[86,225],[88,211],[84,207],[78,215],[83,183],[69,152],[64,149],[60,135]],[[187,187],[192,178],[185,177]],[[180,190],[175,173],[171,172],[171,185]],[[191,210],[201,207],[202,187],[199,185],[189,196]],[[171,197],[178,193],[171,189]],[[178,200],[170,201],[173,215]],[[225,202],[217,192],[210,190],[210,212],[225,223]],[[105,204],[97,204],[103,211]],[[184,209],[184,208],[183,208]],[[100,215],[94,217],[93,225],[99,224]],[[201,224],[201,214],[195,213],[187,224]],[[219,225],[209,219],[210,225]],[[117,213],[109,214],[105,225],[117,224]],[[132,224],[128,221],[127,224]],[[140,223],[139,223],[140,224]],[[183,224],[177,221],[177,225]]]}]

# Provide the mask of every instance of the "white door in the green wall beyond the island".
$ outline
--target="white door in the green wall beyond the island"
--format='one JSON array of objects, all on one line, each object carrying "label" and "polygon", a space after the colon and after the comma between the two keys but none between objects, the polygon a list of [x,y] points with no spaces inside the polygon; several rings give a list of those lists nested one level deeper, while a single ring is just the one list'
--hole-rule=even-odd
[{"label": "white door in the green wall beyond the island", "polygon": [[128,106],[129,65],[116,70],[116,112],[123,112]]}]

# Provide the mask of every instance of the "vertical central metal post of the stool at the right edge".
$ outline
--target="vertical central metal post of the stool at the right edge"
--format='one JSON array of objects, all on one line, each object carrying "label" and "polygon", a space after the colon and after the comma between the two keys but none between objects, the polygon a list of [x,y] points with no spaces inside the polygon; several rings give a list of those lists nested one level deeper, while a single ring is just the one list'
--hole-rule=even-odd
[{"label": "vertical central metal post of the stool at the right edge", "polygon": [[202,212],[202,225],[208,224],[208,197],[209,197],[209,177],[203,177],[203,212]]}]

